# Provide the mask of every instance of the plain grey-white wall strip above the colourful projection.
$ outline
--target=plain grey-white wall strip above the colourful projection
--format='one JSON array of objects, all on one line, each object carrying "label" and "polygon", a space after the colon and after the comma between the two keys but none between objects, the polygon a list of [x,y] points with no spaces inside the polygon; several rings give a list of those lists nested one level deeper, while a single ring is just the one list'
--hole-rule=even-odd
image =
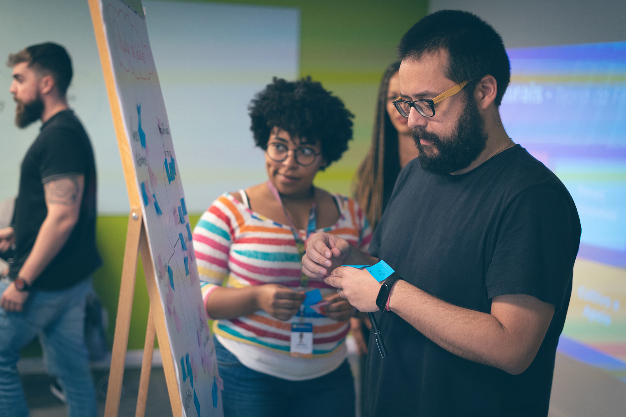
[{"label": "plain grey-white wall strip above the colourful projection", "polygon": [[428,11],[475,13],[506,48],[626,41],[625,0],[430,0]]}]

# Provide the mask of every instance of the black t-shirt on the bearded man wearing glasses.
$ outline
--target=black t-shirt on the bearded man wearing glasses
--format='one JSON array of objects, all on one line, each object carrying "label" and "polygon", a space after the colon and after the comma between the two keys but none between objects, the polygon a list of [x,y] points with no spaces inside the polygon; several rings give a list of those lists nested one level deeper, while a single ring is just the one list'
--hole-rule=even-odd
[{"label": "black t-shirt on the bearded man wearing glasses", "polygon": [[572,197],[520,145],[463,175],[409,162],[370,253],[456,306],[489,313],[492,297],[528,294],[556,310],[534,361],[517,376],[449,353],[397,314],[377,312],[389,356],[376,348],[367,355],[364,415],[546,416],[579,243]]}]

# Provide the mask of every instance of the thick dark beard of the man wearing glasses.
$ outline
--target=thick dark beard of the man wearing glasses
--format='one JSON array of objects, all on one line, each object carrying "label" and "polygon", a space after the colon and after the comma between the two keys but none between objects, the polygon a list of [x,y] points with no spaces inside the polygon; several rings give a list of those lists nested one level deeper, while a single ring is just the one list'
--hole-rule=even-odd
[{"label": "thick dark beard of the man wearing glasses", "polygon": [[[476,101],[472,99],[469,98],[459,118],[456,134],[441,140],[439,135],[424,131],[424,128],[413,130],[413,140],[419,150],[419,166],[424,170],[438,174],[453,173],[468,167],[485,150],[485,120],[478,112]],[[433,142],[433,145],[422,145],[420,138]],[[437,148],[438,155],[426,155],[424,149],[429,147]]]}]

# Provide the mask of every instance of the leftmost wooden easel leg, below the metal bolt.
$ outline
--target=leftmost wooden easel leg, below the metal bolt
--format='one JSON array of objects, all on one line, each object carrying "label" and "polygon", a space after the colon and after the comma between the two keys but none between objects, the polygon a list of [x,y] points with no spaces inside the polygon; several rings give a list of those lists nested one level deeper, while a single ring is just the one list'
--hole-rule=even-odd
[{"label": "leftmost wooden easel leg, below the metal bolt", "polygon": [[128,348],[128,331],[133,309],[133,296],[135,295],[135,275],[137,274],[137,255],[142,224],[141,209],[131,207],[128,217],[128,232],[126,233],[124,265],[121,272],[120,301],[118,302],[115,321],[111,369],[106,389],[105,417],[117,417],[120,411],[121,383],[124,378],[126,348]]}]

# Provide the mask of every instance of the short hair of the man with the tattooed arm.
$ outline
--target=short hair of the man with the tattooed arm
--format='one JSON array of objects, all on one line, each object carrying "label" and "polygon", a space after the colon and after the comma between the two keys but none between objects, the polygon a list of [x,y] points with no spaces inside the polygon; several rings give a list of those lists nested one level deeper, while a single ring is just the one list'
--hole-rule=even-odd
[{"label": "short hair of the man with the tattooed arm", "polygon": [[52,42],[31,45],[18,53],[9,54],[6,64],[13,67],[23,62],[28,62],[29,68],[49,73],[62,96],[68,91],[74,71],[72,59],[63,46]]}]

